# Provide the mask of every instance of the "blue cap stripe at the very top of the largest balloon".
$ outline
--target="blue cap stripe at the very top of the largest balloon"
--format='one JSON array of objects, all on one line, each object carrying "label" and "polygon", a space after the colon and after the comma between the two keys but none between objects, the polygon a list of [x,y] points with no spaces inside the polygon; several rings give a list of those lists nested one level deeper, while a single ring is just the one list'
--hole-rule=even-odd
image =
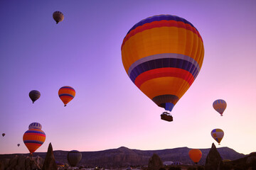
[{"label": "blue cap stripe at the very top of the largest balloon", "polygon": [[[170,21],[170,20],[174,20],[174,21],[181,21],[183,23],[188,23],[189,25],[191,25],[193,28],[195,28],[193,26],[192,23],[186,21],[186,19],[178,17],[178,16],[171,16],[171,15],[159,15],[159,16],[151,16],[149,18],[146,18],[142,21],[140,21],[139,23],[135,24],[129,31],[127,34],[129,34],[129,32],[131,32],[132,30],[134,30],[135,28],[139,27],[139,26],[143,26],[145,23],[151,23],[154,21]],[[197,30],[197,29],[196,29]]]}]

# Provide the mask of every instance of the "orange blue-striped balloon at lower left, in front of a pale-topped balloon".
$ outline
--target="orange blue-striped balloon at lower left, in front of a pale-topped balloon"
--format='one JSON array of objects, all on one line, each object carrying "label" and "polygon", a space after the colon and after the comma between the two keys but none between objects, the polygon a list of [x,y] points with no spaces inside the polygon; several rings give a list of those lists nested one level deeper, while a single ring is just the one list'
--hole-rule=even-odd
[{"label": "orange blue-striped balloon at lower left, in front of a pale-topped balloon", "polygon": [[46,134],[41,129],[29,129],[23,135],[23,142],[31,155],[43,145],[46,140]]}]

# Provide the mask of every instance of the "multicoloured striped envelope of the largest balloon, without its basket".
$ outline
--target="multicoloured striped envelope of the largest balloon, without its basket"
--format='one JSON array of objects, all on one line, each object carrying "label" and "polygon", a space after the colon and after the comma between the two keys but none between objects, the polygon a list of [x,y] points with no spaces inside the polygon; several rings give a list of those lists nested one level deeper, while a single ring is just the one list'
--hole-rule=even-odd
[{"label": "multicoloured striped envelope of the largest balloon, without its basket", "polygon": [[129,78],[166,111],[172,111],[203,64],[201,35],[192,23],[178,16],[151,16],[140,21],[128,31],[121,50]]}]

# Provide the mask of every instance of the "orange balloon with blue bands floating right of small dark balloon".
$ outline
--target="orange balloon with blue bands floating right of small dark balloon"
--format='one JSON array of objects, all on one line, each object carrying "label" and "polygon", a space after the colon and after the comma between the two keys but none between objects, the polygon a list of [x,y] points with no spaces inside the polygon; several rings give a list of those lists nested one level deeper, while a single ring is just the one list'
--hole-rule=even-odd
[{"label": "orange balloon with blue bands floating right of small dark balloon", "polygon": [[68,102],[75,97],[75,89],[70,86],[63,86],[58,91],[58,95],[61,101],[63,101],[64,106],[67,106]]}]

